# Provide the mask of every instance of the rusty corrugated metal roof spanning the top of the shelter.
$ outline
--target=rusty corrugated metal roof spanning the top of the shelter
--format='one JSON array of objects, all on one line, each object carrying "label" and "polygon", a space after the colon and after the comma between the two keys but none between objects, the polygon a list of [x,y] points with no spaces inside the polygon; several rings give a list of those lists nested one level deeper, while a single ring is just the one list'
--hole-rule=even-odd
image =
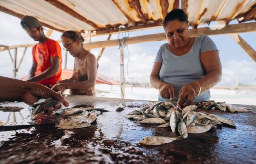
[{"label": "rusty corrugated metal roof spanning the top of the shelter", "polygon": [[190,25],[211,21],[228,24],[256,19],[256,0],[0,0],[0,11],[37,17],[58,31],[107,34],[120,25],[143,29],[161,26],[165,15],[183,8]]}]

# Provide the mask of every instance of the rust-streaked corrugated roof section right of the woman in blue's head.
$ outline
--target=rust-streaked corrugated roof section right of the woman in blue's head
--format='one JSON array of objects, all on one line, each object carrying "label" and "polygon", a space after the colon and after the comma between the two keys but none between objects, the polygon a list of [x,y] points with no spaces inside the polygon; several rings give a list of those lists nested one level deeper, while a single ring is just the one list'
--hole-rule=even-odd
[{"label": "rust-streaked corrugated roof section right of the woman in blue's head", "polygon": [[186,12],[189,23],[196,27],[220,20],[227,24],[234,19],[245,17],[255,8],[256,0],[188,0]]}]

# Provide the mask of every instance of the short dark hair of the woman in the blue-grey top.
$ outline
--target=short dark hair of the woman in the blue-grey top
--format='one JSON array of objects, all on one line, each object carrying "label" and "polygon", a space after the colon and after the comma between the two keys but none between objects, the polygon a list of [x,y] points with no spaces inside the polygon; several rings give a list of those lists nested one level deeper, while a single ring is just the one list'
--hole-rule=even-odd
[{"label": "short dark hair of the woman in the blue-grey top", "polygon": [[163,23],[164,28],[167,26],[167,23],[169,21],[173,21],[173,20],[179,20],[179,21],[188,23],[188,17],[186,15],[186,13],[184,12],[184,10],[182,10],[182,9],[174,9],[166,15],[164,23]]}]

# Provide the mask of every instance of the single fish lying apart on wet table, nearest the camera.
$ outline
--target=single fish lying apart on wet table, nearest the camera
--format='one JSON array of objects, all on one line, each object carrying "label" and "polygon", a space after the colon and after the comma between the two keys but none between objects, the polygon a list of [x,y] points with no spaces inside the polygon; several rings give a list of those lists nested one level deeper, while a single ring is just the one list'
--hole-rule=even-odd
[{"label": "single fish lying apart on wet table, nearest the camera", "polygon": [[171,143],[177,139],[177,137],[146,136],[142,140],[140,140],[139,143],[156,146],[165,143]]}]

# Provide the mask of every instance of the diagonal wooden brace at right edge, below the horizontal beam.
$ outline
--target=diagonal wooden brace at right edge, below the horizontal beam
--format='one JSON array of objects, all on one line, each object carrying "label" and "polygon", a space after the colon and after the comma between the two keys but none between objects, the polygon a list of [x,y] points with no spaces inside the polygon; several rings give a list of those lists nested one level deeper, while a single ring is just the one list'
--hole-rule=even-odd
[{"label": "diagonal wooden brace at right edge, below the horizontal beam", "polygon": [[230,34],[230,36],[245,50],[245,52],[256,62],[256,51],[239,34]]}]

